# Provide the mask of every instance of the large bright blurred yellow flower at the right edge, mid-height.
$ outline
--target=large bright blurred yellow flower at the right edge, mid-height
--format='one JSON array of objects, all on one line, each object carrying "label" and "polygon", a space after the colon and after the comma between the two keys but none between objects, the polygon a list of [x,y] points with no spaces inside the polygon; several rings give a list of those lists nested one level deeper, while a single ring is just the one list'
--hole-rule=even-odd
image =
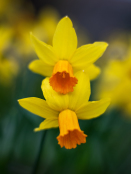
[{"label": "large bright blurred yellow flower at the right edge, mid-height", "polygon": [[131,114],[131,52],[124,60],[111,60],[99,84],[100,97],[110,97],[112,106]]}]

